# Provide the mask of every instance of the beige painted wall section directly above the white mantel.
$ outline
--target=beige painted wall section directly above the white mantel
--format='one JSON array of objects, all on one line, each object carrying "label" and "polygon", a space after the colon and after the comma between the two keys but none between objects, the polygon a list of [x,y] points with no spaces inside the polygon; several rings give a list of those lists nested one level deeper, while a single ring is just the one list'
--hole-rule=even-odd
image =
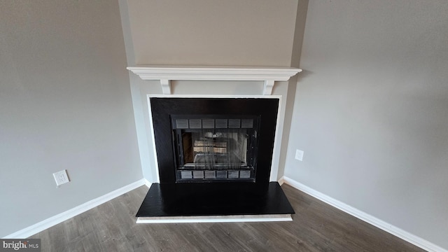
[{"label": "beige painted wall section directly above the white mantel", "polygon": [[290,66],[297,1],[127,1],[136,64]]}]

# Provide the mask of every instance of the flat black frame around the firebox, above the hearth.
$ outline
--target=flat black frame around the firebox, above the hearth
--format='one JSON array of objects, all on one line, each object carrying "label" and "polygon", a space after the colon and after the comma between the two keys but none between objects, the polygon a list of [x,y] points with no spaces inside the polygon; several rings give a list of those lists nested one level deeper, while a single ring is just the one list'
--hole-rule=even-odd
[{"label": "flat black frame around the firebox, above the hearth", "polygon": [[[255,183],[269,183],[279,99],[150,97],[160,183],[176,183],[172,115],[256,115],[260,117]],[[168,141],[172,139],[172,141]],[[179,182],[179,181],[178,181]],[[235,182],[235,181],[225,181]]]}]

